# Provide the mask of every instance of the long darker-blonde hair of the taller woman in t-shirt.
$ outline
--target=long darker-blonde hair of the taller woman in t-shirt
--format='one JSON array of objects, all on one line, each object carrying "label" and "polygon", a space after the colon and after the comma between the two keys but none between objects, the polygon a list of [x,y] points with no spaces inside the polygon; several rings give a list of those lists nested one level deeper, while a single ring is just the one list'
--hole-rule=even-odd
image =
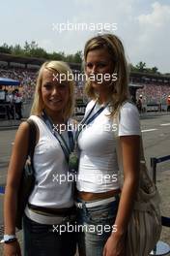
[{"label": "long darker-blonde hair of the taller woman in t-shirt", "polygon": [[[103,34],[90,39],[84,48],[84,61],[86,62],[89,51],[100,48],[107,50],[113,62],[113,73],[117,73],[117,80],[110,83],[108,91],[108,100],[112,106],[111,116],[113,116],[129,98],[128,63],[121,40],[112,34]],[[85,84],[85,93],[93,100],[99,97],[90,80]]]}]

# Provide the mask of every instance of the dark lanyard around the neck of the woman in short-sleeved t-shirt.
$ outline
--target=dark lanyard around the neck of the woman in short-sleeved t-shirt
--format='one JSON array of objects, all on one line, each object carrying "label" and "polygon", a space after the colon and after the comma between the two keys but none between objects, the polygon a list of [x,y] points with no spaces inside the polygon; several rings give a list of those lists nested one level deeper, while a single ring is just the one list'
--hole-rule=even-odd
[{"label": "dark lanyard around the neck of the woman in short-sleeved t-shirt", "polygon": [[[98,112],[94,113],[94,115],[92,115],[92,116],[90,117],[91,113],[94,111],[94,109],[95,109],[95,107],[96,107],[96,105],[97,105],[97,101],[96,101],[96,103],[95,103],[94,107],[91,109],[91,111],[90,111],[90,112],[87,114],[87,116],[86,116],[84,119],[82,119],[82,121],[79,123],[80,125],[78,126],[78,131],[75,133],[75,142],[77,141],[78,136],[79,136],[79,134],[81,133],[81,131],[82,131],[82,129],[83,129],[83,125],[84,125],[84,124],[85,124],[85,125],[88,125],[88,124],[91,123],[93,120],[95,120],[95,119],[97,118],[97,116],[99,115],[99,113],[100,113],[100,112],[103,112],[103,110],[108,106],[108,104],[109,104],[109,103],[107,103],[104,107],[101,107]],[[89,117],[90,117],[90,118],[89,118]],[[81,127],[81,129],[80,129],[80,127]]]}]

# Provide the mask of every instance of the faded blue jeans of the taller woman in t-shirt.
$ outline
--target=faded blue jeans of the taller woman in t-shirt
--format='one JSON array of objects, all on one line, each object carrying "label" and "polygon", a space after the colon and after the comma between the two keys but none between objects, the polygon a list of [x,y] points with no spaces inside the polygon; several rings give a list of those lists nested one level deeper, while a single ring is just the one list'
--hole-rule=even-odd
[{"label": "faded blue jeans of the taller woman in t-shirt", "polygon": [[[78,199],[78,203],[84,201]],[[80,256],[102,256],[106,240],[116,231],[114,222],[119,205],[116,201],[94,208],[77,208],[77,224],[84,230],[78,233],[78,250]]]}]

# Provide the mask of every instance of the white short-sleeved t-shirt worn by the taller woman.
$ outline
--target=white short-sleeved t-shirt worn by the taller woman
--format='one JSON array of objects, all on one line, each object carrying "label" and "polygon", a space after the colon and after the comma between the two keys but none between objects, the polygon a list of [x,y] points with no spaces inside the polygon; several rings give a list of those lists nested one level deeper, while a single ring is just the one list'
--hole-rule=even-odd
[{"label": "white short-sleeved t-shirt worn by the taller woman", "polygon": [[[94,101],[88,104],[85,116],[94,105]],[[90,116],[100,108],[97,104]],[[109,113],[108,106],[79,134],[80,162],[76,183],[79,191],[102,193],[120,187],[114,133],[116,123],[107,116]],[[129,102],[120,110],[118,131],[118,136],[141,134],[137,108]]]}]

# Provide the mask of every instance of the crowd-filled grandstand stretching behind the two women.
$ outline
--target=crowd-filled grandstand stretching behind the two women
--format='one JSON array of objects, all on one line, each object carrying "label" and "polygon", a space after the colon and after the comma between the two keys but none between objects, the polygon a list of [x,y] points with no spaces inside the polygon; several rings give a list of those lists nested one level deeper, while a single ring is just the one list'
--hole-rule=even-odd
[{"label": "crowd-filled grandstand stretching behind the two women", "polygon": [[[0,77],[20,81],[24,101],[31,100],[34,95],[37,71],[45,59],[13,56],[0,53]],[[69,63],[73,74],[81,72],[81,65]],[[76,81],[76,98],[83,98],[83,80]],[[170,76],[132,72],[129,77],[129,89],[132,99],[136,101],[143,96],[145,105],[166,106],[170,94]]]}]

